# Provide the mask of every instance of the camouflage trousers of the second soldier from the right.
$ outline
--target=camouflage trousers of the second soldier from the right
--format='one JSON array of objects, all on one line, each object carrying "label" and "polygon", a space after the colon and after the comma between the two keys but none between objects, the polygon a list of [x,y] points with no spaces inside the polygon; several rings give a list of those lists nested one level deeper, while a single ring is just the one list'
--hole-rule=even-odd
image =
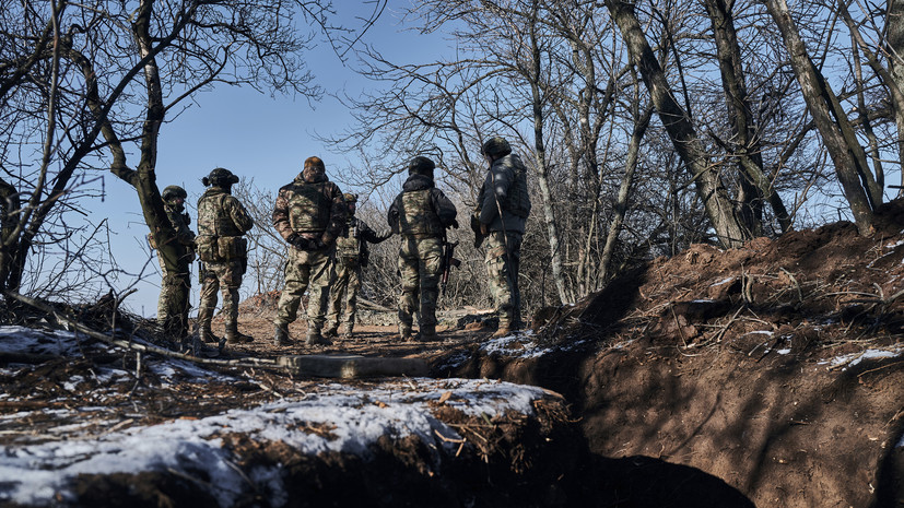
[{"label": "camouflage trousers of the second soldier from the right", "polygon": [[402,294],[399,296],[400,330],[411,330],[413,314],[418,311],[421,333],[435,331],[442,260],[441,238],[402,237],[399,249],[402,284]]}]

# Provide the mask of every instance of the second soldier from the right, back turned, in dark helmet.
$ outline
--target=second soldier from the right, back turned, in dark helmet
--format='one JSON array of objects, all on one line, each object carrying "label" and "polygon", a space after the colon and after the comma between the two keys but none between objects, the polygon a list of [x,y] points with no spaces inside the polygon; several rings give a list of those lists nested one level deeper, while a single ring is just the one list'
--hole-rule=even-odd
[{"label": "second soldier from the right, back turned, in dark helmet", "polygon": [[433,181],[436,165],[416,156],[408,164],[402,192],[389,206],[392,233],[402,237],[399,249],[399,336],[411,340],[412,314],[418,310],[422,341],[436,340],[436,299],[442,271],[443,238],[447,227],[458,227],[455,205]]}]

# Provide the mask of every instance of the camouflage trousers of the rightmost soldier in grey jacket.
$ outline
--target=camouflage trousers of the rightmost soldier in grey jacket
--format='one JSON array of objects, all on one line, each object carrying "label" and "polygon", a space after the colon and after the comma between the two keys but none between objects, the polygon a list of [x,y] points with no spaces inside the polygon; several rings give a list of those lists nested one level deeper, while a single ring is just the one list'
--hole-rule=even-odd
[{"label": "camouflage trousers of the rightmost soldier in grey jacket", "polygon": [[521,293],[518,290],[518,268],[521,263],[520,233],[491,232],[483,244],[486,247],[486,275],[500,328],[512,327],[521,319]]}]

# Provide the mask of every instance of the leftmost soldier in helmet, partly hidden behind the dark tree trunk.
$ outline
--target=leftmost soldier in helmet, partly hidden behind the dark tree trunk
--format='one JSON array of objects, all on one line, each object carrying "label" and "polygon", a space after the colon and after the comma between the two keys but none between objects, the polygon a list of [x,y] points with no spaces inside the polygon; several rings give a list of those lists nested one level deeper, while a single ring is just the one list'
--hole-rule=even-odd
[{"label": "leftmost soldier in helmet, partly hidden behind the dark tree trunk", "polygon": [[[157,260],[163,273],[157,300],[157,322],[172,339],[185,339],[188,335],[189,294],[191,292],[191,262],[195,261],[195,233],[188,227],[191,218],[185,213],[185,189],[168,186],[161,193],[163,209],[169,224],[176,232],[177,268],[167,270],[163,255],[157,250]],[[153,235],[148,235],[151,245],[156,248]]]}]

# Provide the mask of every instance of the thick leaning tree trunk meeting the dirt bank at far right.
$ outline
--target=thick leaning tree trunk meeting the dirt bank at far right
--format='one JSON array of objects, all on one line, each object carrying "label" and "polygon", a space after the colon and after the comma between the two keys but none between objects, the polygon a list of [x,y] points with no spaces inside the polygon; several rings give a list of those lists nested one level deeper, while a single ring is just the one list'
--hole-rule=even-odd
[{"label": "thick leaning tree trunk meeting the dirt bank at far right", "polygon": [[[785,45],[788,47],[788,56],[791,60],[795,76],[800,84],[800,91],[810,114],[813,116],[813,123],[822,135],[825,149],[835,165],[835,173],[854,214],[857,229],[861,235],[869,235],[872,232],[872,204],[865,190],[866,186],[859,181],[862,170],[866,169],[868,173],[869,168],[862,168],[855,156],[856,150],[860,146],[858,144],[855,147],[848,144],[849,135],[845,135],[843,126],[835,121],[841,121],[841,117],[836,116],[833,120],[832,114],[837,115],[838,113],[837,108],[833,106],[833,103],[837,103],[837,98],[834,97],[831,90],[827,90],[825,81],[813,66],[807,48],[797,33],[797,27],[791,20],[785,0],[767,0],[766,9],[778,25]],[[862,149],[860,149],[860,152],[862,152]]]}]

